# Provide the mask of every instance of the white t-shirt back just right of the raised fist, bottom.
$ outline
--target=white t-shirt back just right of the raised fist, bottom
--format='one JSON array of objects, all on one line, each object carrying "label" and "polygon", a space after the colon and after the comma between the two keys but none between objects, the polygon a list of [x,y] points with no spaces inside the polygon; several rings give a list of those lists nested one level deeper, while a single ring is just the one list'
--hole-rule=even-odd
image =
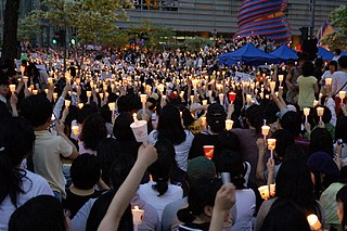
[{"label": "white t-shirt back just right of the raised fist, bottom", "polygon": [[253,190],[244,189],[235,191],[237,218],[233,231],[252,231],[253,214],[256,209],[256,195]]}]

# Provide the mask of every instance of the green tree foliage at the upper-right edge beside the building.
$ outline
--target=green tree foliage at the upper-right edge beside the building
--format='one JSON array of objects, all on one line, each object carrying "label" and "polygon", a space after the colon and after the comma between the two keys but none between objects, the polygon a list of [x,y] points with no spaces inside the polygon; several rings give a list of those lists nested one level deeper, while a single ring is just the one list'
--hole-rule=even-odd
[{"label": "green tree foliage at the upper-right edge beside the building", "polygon": [[347,5],[331,12],[329,20],[334,27],[334,33],[327,35],[322,43],[326,43],[331,49],[347,49]]}]

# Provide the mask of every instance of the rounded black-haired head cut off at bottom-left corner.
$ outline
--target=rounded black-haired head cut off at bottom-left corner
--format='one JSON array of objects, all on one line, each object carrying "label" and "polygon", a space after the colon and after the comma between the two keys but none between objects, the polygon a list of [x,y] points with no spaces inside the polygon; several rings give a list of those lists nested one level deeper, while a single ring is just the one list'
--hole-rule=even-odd
[{"label": "rounded black-haired head cut off at bottom-left corner", "polygon": [[18,207],[11,216],[9,231],[65,231],[62,204],[51,195],[39,195]]}]

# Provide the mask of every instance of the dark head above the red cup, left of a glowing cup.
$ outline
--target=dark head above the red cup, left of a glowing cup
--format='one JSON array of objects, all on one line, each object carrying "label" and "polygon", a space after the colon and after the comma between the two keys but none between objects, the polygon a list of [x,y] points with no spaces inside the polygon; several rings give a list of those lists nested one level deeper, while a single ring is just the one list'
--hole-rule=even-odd
[{"label": "dark head above the red cup, left of a glowing cup", "polygon": [[219,103],[213,103],[208,106],[206,121],[210,130],[218,133],[226,129],[227,113],[224,107]]}]

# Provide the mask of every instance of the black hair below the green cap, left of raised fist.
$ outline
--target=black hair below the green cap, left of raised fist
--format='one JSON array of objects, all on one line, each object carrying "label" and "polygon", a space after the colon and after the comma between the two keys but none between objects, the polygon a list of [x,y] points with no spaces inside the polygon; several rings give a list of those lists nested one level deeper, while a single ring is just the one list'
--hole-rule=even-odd
[{"label": "black hair below the green cap, left of raised fist", "polygon": [[177,211],[183,223],[191,223],[195,217],[204,214],[206,206],[215,206],[218,190],[222,185],[219,179],[200,179],[190,185],[187,208]]}]

